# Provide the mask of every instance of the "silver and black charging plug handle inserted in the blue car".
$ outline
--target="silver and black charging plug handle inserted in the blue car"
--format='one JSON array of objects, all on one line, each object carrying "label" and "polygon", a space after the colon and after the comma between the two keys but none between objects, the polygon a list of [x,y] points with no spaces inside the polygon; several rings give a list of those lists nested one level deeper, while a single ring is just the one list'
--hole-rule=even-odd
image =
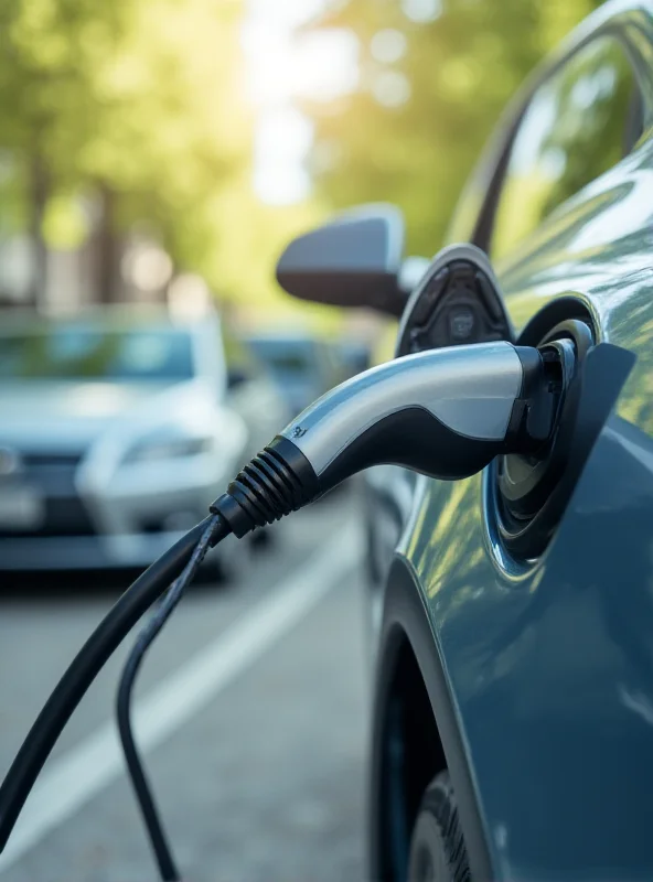
[{"label": "silver and black charging plug handle inserted in the blue car", "polygon": [[442,480],[553,431],[550,359],[505,341],[407,355],[336,386],[255,456],[211,510],[240,537],[382,463]]}]

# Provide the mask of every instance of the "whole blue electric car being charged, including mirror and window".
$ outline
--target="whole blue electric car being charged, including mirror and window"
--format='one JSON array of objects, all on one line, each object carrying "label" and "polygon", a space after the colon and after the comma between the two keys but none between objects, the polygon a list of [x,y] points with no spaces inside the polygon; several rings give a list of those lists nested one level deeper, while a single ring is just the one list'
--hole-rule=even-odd
[{"label": "whole blue electric car being charged, including mirror and window", "polygon": [[[584,365],[539,454],[367,482],[372,879],[653,878],[652,122],[653,3],[609,2],[524,85],[460,198],[449,241],[481,249],[495,290],[458,260],[408,301],[392,206],[279,263],[297,297],[403,315],[398,354],[506,337]],[[598,369],[600,343],[630,373]]]}]

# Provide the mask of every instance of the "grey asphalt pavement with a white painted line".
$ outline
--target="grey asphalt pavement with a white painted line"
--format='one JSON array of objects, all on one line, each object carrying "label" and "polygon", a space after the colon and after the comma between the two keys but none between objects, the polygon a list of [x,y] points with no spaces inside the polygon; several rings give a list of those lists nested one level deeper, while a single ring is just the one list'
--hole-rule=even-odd
[{"label": "grey asphalt pavement with a white painted line", "polygon": [[[364,880],[368,670],[355,488],[276,525],[232,584],[183,600],[138,681],[150,777],[184,880]],[[0,773],[129,576],[0,592]],[[126,644],[127,647],[128,644]],[[157,878],[113,723],[117,653],[0,856],[1,882]]]}]

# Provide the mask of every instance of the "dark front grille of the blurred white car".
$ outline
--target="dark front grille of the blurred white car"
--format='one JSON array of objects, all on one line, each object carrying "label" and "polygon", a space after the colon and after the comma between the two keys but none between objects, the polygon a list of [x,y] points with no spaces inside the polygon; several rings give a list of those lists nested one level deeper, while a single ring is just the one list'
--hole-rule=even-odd
[{"label": "dark front grille of the blurred white car", "polygon": [[95,528],[75,487],[81,453],[24,453],[21,481],[44,498],[44,516],[32,530],[8,530],[0,537],[93,536]]}]

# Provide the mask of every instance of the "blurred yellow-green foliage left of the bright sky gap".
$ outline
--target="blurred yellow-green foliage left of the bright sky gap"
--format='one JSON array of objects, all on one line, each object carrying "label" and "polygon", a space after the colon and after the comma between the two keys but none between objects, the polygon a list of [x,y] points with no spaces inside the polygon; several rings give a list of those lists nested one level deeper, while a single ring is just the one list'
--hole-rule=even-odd
[{"label": "blurred yellow-green foliage left of the bright sky gap", "polygon": [[75,247],[110,193],[115,234],[142,228],[220,297],[269,302],[274,258],[313,215],[251,195],[242,15],[240,0],[2,0],[0,235],[33,230],[41,198],[36,229]]}]

